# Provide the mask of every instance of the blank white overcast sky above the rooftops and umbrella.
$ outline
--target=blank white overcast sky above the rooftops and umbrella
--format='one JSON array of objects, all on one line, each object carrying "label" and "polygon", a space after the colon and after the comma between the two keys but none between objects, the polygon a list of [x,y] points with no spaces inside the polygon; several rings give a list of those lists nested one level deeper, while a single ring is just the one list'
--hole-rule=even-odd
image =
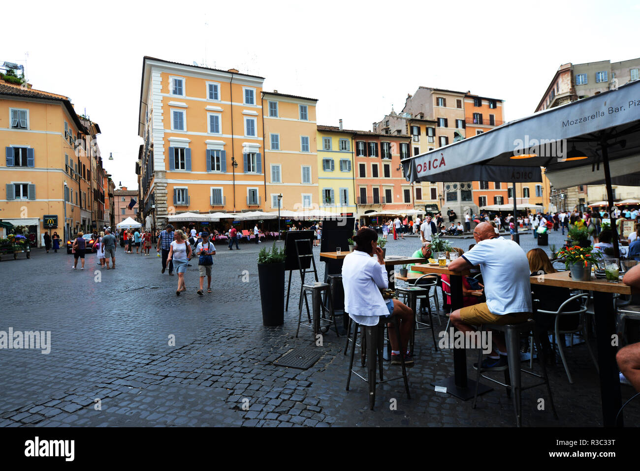
[{"label": "blank white overcast sky above the rooftops and umbrella", "polygon": [[319,124],[369,131],[420,85],[505,100],[513,120],[534,111],[559,65],[640,56],[639,1],[526,4],[10,2],[4,24],[24,34],[5,28],[0,61],[26,60],[33,88],[86,109],[106,169],[137,188],[145,55],[266,77],[264,90],[319,99]]}]

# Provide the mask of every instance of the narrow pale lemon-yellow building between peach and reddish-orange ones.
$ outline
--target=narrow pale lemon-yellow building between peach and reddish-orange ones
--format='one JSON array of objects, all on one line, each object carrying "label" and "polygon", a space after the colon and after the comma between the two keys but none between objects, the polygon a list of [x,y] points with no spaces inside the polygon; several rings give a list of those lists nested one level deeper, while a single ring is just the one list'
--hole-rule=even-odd
[{"label": "narrow pale lemon-yellow building between peach and reddish-orange ones", "polygon": [[339,126],[317,126],[318,198],[321,209],[356,214],[353,134]]}]

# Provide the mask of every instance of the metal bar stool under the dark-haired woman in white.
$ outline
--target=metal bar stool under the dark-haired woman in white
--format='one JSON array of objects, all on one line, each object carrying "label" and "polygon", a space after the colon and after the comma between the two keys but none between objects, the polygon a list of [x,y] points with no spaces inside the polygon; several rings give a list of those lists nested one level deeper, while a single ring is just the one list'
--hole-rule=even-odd
[{"label": "metal bar stool under the dark-haired woman in white", "polygon": [[[400,355],[402,362],[402,376],[398,376],[397,378],[389,378],[383,379],[383,335],[384,328],[386,324],[393,324],[394,330],[397,335],[398,345],[401,344],[400,340],[400,328],[399,323],[397,322],[396,316],[391,315],[390,317],[381,317],[378,324],[375,326],[365,326],[362,324],[358,324],[355,321],[351,321],[353,323],[353,343],[351,344],[351,360],[349,361],[349,376],[347,377],[347,390],[349,390],[349,383],[351,383],[351,373],[358,376],[358,378],[369,383],[369,408],[373,410],[373,406],[376,402],[376,384],[387,383],[387,381],[395,381],[396,379],[403,378],[404,379],[404,389],[406,390],[407,399],[411,399],[411,395],[409,393],[409,379],[406,376],[406,366],[404,365],[404,354]],[[363,332],[364,330],[364,332]],[[362,336],[362,346],[361,349],[361,357],[363,358],[362,365],[365,365],[365,359],[368,360],[366,362],[367,365],[367,378],[364,376],[360,376],[358,372],[353,371],[353,359],[355,358],[356,352],[356,339],[358,337],[358,331],[360,331],[360,335]],[[349,344],[349,340],[347,340],[347,345]],[[378,372],[380,373],[380,381],[376,381],[376,361],[378,362]]]}]

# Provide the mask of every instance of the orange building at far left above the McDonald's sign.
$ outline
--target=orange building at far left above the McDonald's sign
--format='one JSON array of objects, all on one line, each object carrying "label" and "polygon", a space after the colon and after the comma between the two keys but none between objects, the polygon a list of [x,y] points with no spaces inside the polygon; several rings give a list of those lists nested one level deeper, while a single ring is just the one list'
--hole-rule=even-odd
[{"label": "orange building at far left above the McDonald's sign", "polygon": [[90,231],[97,173],[87,136],[67,97],[0,81],[0,220],[26,226],[38,246],[45,230],[63,241]]}]

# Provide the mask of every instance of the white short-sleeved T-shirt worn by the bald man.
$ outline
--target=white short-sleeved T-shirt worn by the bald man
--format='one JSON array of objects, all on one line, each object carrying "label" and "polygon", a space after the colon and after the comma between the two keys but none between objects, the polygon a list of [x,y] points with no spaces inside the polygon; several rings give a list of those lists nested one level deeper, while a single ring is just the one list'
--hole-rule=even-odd
[{"label": "white short-sleeved T-shirt worn by the bald man", "polygon": [[517,243],[503,237],[486,239],[462,257],[480,265],[486,304],[492,314],[532,312],[529,260]]}]

